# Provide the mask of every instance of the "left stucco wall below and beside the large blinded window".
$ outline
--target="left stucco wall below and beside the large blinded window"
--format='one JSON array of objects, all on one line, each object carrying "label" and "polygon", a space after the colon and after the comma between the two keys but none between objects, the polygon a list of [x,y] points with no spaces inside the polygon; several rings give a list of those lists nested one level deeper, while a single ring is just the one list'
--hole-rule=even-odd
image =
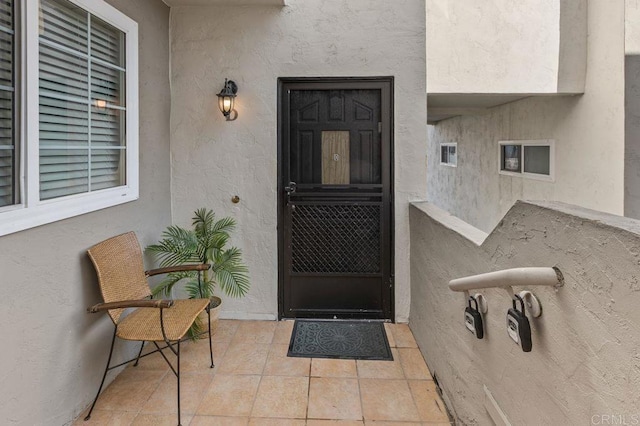
[{"label": "left stucco wall below and beside the large blinded window", "polygon": [[[169,8],[109,0],[140,32],[140,199],[0,237],[0,423],[62,425],[95,395],[113,326],[89,315],[99,302],[91,245],[134,230],[143,244],[171,221]],[[122,359],[131,346],[116,347]]]}]

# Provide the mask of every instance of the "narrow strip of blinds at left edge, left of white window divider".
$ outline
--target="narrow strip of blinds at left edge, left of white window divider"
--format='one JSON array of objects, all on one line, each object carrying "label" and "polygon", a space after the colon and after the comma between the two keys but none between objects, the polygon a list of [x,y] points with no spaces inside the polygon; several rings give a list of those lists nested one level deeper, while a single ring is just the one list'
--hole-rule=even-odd
[{"label": "narrow strip of blinds at left edge, left of white window divider", "polygon": [[0,207],[17,203],[14,22],[13,0],[0,0]]}]

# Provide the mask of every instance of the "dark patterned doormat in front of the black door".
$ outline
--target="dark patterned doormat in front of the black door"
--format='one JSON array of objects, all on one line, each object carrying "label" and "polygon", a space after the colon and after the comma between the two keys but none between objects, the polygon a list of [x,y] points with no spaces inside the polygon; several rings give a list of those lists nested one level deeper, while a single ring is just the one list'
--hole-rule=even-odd
[{"label": "dark patterned doormat in front of the black door", "polygon": [[382,322],[296,320],[290,357],[393,361]]}]

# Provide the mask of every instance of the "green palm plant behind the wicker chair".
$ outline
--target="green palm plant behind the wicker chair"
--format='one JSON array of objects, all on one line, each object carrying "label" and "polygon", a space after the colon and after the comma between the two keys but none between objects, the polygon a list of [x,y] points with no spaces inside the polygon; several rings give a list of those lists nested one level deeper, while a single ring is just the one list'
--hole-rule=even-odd
[{"label": "green palm plant behind the wicker chair", "polygon": [[[244,296],[249,291],[247,266],[237,247],[226,248],[230,233],[236,226],[231,217],[216,220],[212,210],[201,208],[194,212],[193,229],[169,226],[157,244],[146,248],[160,263],[160,267],[185,263],[208,263],[211,268],[202,273],[199,283],[197,271],[172,272],[154,290],[154,297],[170,296],[174,286],[186,280],[184,289],[190,298],[211,300],[212,330],[215,328],[222,300],[214,295],[216,287],[231,297]],[[206,315],[205,315],[206,317]],[[191,326],[189,336],[195,338],[204,329],[203,318]]]}]

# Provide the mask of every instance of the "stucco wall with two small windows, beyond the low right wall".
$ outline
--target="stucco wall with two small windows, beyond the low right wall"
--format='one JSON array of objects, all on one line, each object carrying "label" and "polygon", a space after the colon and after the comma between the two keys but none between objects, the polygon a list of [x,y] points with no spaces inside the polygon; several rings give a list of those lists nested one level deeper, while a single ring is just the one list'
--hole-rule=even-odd
[{"label": "stucco wall with two small windows, beyond the low right wall", "polygon": [[[518,199],[624,209],[624,3],[589,1],[584,95],[532,97],[428,130],[428,199],[490,231]],[[526,73],[522,74],[525,76]],[[500,175],[498,141],[554,139],[555,182]],[[458,167],[439,144],[458,143]]]}]

